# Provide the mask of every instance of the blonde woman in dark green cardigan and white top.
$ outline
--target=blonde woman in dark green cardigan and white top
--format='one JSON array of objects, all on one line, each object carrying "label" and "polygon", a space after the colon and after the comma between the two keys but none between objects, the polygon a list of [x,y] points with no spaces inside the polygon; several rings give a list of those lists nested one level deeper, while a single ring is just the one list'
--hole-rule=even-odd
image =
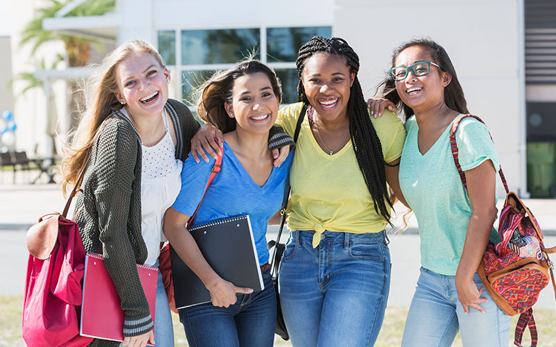
[{"label": "blonde woman in dark green cardigan and white top", "polygon": [[[181,187],[181,167],[199,124],[168,99],[170,74],[151,44],[125,42],[102,62],[92,98],[65,151],[64,189],[86,166],[76,210],[85,251],[101,252],[122,301],[124,346],[174,346],[158,275],[154,322],[136,264],[158,266],[163,216]],[[90,159],[86,162],[87,158]],[[118,346],[96,339],[90,346]]]}]

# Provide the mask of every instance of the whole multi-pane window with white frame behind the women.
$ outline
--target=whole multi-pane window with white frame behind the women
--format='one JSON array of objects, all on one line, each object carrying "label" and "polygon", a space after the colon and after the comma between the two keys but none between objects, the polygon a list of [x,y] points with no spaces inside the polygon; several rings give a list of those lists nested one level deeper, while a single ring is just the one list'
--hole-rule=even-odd
[{"label": "whole multi-pane window with white frame behind the women", "polygon": [[[332,36],[332,26],[293,28],[229,28],[204,30],[161,30],[158,51],[165,64],[181,75],[175,96],[195,105],[193,90],[216,70],[227,69],[247,56],[274,67],[282,83],[282,103],[297,101],[295,60],[300,46],[314,35]],[[267,55],[261,56],[261,39],[266,35]],[[178,51],[178,46],[179,51]]]}]

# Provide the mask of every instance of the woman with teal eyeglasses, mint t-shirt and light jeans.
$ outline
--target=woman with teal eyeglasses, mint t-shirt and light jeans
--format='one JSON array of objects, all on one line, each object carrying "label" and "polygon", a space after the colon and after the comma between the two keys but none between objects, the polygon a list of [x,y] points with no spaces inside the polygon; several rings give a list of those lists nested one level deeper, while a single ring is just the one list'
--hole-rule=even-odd
[{"label": "woman with teal eyeglasses, mint t-shirt and light jeans", "polygon": [[[496,219],[498,152],[489,131],[466,118],[456,133],[461,183],[450,149],[454,119],[468,113],[456,71],[442,46],[412,40],[395,49],[375,115],[385,106],[409,117],[400,187],[419,225],[421,269],[402,346],[508,346],[507,316],[475,273]],[[391,103],[392,101],[393,103]]]}]

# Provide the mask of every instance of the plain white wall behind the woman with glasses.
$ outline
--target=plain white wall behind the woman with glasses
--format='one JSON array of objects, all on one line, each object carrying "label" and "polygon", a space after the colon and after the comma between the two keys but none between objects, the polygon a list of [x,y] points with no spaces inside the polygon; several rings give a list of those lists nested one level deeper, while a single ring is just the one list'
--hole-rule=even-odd
[{"label": "plain white wall behind the woman with glasses", "polygon": [[359,54],[366,96],[391,68],[395,46],[423,35],[444,46],[469,110],[491,130],[510,189],[526,192],[522,0],[338,0],[333,33]]}]

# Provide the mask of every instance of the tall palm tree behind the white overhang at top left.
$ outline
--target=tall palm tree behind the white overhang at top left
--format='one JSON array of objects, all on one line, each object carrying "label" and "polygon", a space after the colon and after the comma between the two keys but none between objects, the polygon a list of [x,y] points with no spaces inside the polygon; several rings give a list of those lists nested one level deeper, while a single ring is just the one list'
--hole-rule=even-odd
[{"label": "tall palm tree behind the white overhang at top left", "polygon": [[[83,67],[87,65],[91,54],[91,44],[94,43],[101,45],[100,42],[95,42],[83,37],[68,35],[67,33],[60,33],[58,31],[44,30],[42,28],[42,19],[54,17],[56,12],[66,6],[67,3],[70,3],[71,0],[48,0],[48,2],[47,6],[37,10],[35,18],[24,28],[22,41],[19,44],[33,44],[31,53],[34,55],[37,49],[43,44],[61,40],[65,45],[65,59],[67,59],[68,66]],[[104,13],[113,11],[114,9],[115,0],[94,0],[77,6],[70,11],[67,16],[79,17],[103,15]],[[79,86],[76,83],[70,82],[70,88],[72,89],[72,99],[70,100],[69,123],[70,129],[72,129],[76,126],[79,118],[77,115],[77,109],[79,99],[81,99],[82,96]]]}]

